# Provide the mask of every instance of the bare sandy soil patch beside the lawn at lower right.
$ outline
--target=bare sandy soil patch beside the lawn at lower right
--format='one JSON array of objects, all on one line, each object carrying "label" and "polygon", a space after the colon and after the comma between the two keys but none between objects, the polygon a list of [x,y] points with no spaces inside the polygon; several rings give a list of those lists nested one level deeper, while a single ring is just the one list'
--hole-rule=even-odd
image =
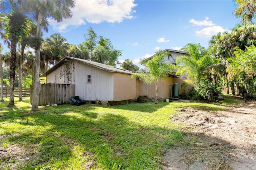
[{"label": "bare sandy soil patch beside the lawn at lower right", "polygon": [[232,98],[237,106],[186,107],[172,117],[185,124],[184,142],[162,156],[163,170],[256,170],[256,103]]}]

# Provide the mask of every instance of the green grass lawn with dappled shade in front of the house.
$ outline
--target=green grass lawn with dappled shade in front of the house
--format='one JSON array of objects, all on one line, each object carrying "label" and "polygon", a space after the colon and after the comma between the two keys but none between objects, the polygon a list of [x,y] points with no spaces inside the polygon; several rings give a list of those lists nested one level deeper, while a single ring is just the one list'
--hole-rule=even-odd
[{"label": "green grass lawn with dappled shade in front of the house", "polygon": [[[30,112],[29,97],[0,103],[0,169],[161,169],[158,160],[184,142],[182,124],[170,121],[180,107],[207,111],[222,103],[58,105]],[[28,117],[28,123],[27,122]],[[17,123],[8,123],[17,122]],[[18,168],[17,168],[18,167]]]}]

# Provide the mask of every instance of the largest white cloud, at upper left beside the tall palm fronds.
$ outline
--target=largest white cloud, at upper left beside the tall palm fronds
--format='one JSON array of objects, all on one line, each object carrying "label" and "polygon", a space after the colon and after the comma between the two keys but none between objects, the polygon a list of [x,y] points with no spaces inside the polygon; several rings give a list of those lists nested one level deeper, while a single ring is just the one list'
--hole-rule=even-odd
[{"label": "largest white cloud, at upper left beside the tall palm fronds", "polygon": [[50,25],[59,32],[67,32],[72,28],[85,25],[86,21],[99,24],[101,22],[122,22],[132,19],[136,12],[132,8],[137,6],[134,0],[76,0],[75,8],[71,9],[73,17],[57,23],[49,19]]}]

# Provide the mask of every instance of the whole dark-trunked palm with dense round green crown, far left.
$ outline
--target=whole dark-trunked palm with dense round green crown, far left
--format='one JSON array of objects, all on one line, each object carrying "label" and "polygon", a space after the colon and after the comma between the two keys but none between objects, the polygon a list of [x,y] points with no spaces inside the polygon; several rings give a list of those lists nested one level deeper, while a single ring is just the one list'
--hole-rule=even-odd
[{"label": "whole dark-trunked palm with dense round green crown, far left", "polygon": [[28,35],[28,18],[18,6],[12,6],[11,13],[1,18],[6,39],[10,41],[10,100],[8,107],[14,107],[14,79],[16,70],[16,47],[20,37]]}]

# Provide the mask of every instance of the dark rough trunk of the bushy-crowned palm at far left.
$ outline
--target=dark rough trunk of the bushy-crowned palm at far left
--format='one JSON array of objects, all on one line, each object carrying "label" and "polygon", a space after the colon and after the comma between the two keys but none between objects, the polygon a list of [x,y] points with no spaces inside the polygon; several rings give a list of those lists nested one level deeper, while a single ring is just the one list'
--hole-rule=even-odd
[{"label": "dark rough trunk of the bushy-crowned palm at far left", "polygon": [[11,60],[10,60],[10,100],[7,107],[14,107],[14,80],[15,80],[15,69],[16,69],[16,47],[17,43],[11,42]]}]

